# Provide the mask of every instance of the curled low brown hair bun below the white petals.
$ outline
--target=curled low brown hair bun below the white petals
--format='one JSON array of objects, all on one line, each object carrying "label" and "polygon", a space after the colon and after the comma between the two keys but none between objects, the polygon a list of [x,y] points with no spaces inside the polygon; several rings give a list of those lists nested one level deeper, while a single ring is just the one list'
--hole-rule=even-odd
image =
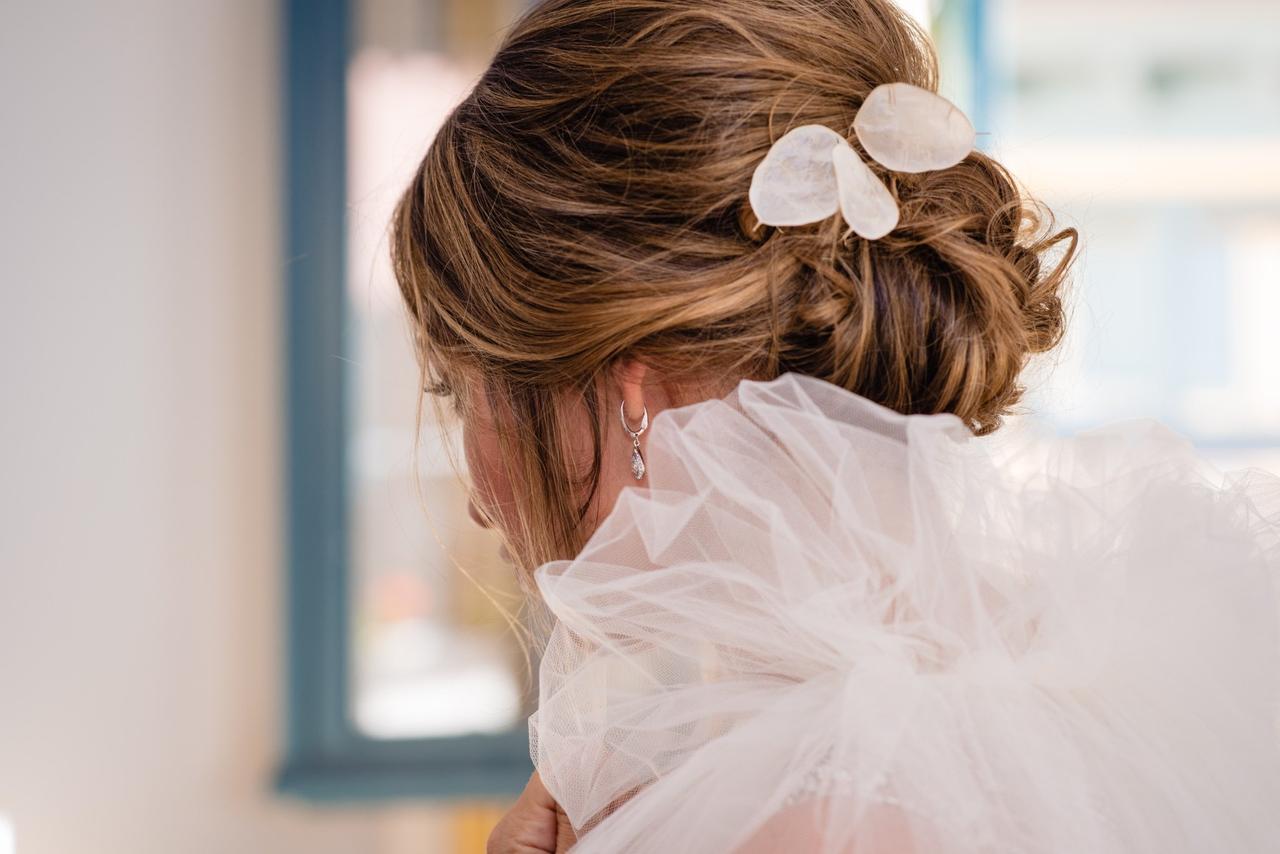
[{"label": "curled low brown hair bun below the white petals", "polygon": [[[783,365],[989,433],[1020,399],[1027,360],[1061,339],[1075,230],[1052,233],[1047,211],[982,152],[890,179],[902,211],[891,234],[774,237],[806,270]],[[1062,257],[1046,265],[1059,243]]]}]

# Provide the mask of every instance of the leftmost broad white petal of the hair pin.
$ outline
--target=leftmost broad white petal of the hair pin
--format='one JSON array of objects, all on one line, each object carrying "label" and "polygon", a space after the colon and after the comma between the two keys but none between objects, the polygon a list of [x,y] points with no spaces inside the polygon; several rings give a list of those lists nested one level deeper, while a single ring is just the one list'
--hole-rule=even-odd
[{"label": "leftmost broad white petal of the hair pin", "polygon": [[765,225],[804,225],[840,209],[831,150],[841,136],[820,124],[785,133],[755,168],[748,197]]}]

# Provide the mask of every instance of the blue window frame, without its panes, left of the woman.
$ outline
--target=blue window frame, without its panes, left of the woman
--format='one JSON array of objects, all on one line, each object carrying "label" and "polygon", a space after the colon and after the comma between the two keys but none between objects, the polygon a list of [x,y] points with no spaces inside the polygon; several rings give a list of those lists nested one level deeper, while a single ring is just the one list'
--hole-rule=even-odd
[{"label": "blue window frame, without its panes, left of the woman", "polygon": [[347,0],[284,5],[288,697],[276,785],[311,799],[518,793],[527,731],[372,739],[352,723],[348,543]]}]

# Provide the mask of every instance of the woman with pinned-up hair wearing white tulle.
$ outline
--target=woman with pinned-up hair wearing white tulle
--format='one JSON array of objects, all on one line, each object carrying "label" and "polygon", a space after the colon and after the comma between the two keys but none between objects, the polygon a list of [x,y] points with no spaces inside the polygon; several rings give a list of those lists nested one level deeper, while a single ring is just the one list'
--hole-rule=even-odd
[{"label": "woman with pinned-up hair wearing white tulle", "polygon": [[431,143],[424,382],[554,617],[490,850],[1280,849],[1280,484],[978,438],[1076,236],[936,90],[887,0],[550,0]]}]

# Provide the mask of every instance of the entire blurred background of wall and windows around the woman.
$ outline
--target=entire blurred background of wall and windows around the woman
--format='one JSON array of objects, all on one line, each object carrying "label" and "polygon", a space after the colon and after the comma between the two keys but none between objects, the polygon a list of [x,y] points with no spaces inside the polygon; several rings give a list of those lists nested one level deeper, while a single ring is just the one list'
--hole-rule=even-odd
[{"label": "entire blurred background of wall and windows around the woman", "polygon": [[[1280,4],[904,5],[1083,233],[1034,417],[1280,471]],[[536,685],[385,224],[522,8],[0,5],[0,854],[484,850]]]}]

